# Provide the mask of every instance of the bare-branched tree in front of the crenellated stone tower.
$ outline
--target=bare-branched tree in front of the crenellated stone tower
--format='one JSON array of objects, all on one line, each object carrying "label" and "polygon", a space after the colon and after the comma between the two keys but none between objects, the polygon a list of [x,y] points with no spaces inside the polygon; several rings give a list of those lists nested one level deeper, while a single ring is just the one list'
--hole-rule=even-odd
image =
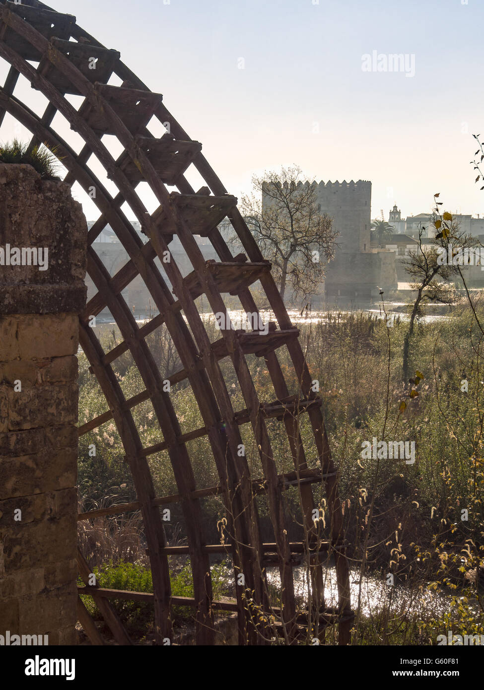
[{"label": "bare-branched tree in front of the crenellated stone tower", "polygon": [[297,166],[254,176],[253,194],[241,203],[255,241],[272,263],[282,299],[288,286],[293,298],[318,294],[338,235],[318,207],[315,186],[301,177]]}]

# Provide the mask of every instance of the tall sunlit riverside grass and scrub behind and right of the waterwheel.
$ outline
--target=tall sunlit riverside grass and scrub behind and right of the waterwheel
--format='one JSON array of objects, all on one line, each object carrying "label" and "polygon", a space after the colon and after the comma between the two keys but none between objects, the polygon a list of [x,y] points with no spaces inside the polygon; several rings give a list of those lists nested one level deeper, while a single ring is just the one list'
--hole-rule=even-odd
[{"label": "tall sunlit riverside grass and scrub behind and right of the waterwheel", "polygon": [[[483,308],[478,306],[477,314],[484,321]],[[465,304],[456,308],[452,319],[420,319],[410,357],[413,371],[418,369],[424,378],[415,388],[404,382],[401,375],[406,328],[405,320],[398,317],[394,326],[387,328],[384,319],[365,313],[328,313],[317,322],[300,326],[311,375],[320,384],[330,445],[339,467],[344,536],[349,543],[352,577],[360,583],[360,590],[369,575],[385,586],[387,580],[394,583],[388,586],[388,595],[378,604],[378,610],[371,615],[360,611],[354,630],[356,644],[431,644],[450,624],[454,625],[454,632],[473,631],[483,624],[481,580],[472,578],[472,572],[479,573],[484,566],[483,334]],[[215,339],[216,334],[211,335]],[[101,341],[108,337],[106,331]],[[108,349],[107,342],[105,345]],[[166,331],[158,334],[152,344],[162,371],[175,366],[173,357],[166,358],[172,345]],[[298,382],[289,355],[280,351],[278,357],[290,392],[296,393]],[[275,400],[264,362],[248,357],[248,364],[260,400]],[[222,360],[220,366],[233,408],[244,408],[231,363]],[[121,360],[117,371],[115,362],[115,371],[126,397],[139,393],[142,384],[133,363]],[[81,418],[84,415],[87,419],[104,412],[106,403],[82,356],[80,372],[79,410]],[[467,381],[467,392],[461,390],[463,380]],[[410,397],[412,388],[418,395]],[[202,426],[186,382],[174,387],[171,400],[184,431]],[[403,402],[405,408],[401,406]],[[161,438],[150,402],[134,408],[133,419],[146,444]],[[109,493],[118,482],[126,485],[126,491],[130,489],[119,436],[109,424],[81,439],[79,463],[84,475],[93,464],[106,467],[105,484],[98,484],[96,489],[98,496],[99,491]],[[249,427],[241,427],[247,460],[252,475],[262,476],[258,449]],[[268,420],[267,428],[278,472],[292,471],[293,460],[283,425]],[[309,466],[316,466],[318,456],[307,415],[300,418],[300,428]],[[363,461],[362,442],[371,441],[372,437],[415,442],[415,464]],[[97,445],[95,459],[87,456],[90,442]],[[197,488],[217,484],[206,437],[190,442],[189,451]],[[150,463],[157,495],[176,493],[168,455],[158,453],[150,458]],[[91,488],[94,491],[94,486]],[[314,486],[313,494],[323,515],[321,535],[328,537],[330,520],[322,488]],[[225,514],[224,506],[220,497],[209,497],[203,507],[206,539],[217,542],[217,521]],[[273,541],[264,497],[258,497],[258,509],[262,537]],[[284,510],[289,518],[291,540],[300,539],[303,529],[297,490],[284,492]],[[468,512],[467,520],[462,519],[463,510]],[[186,533],[180,504],[173,506],[172,521],[180,524],[182,534]],[[119,525],[115,529],[122,533],[124,527]],[[93,554],[95,544],[93,537],[88,542]],[[126,546],[128,551],[129,548]],[[109,549],[104,549],[103,558],[108,553]],[[135,558],[134,550],[129,558]],[[402,586],[407,603],[392,593],[396,590],[391,587]],[[425,592],[447,598],[447,617],[436,613],[423,597]],[[336,640],[327,638],[331,639]]]}]

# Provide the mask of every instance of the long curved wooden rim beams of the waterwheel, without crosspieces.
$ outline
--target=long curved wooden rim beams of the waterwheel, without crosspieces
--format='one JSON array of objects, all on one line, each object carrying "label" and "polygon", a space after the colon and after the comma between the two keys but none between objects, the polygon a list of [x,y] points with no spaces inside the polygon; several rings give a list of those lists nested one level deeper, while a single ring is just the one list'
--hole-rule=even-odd
[{"label": "long curved wooden rim beams of the waterwheel, without crosspieces", "polygon": [[[126,460],[133,474],[138,503],[142,510],[148,543],[148,555],[153,573],[153,602],[155,606],[157,642],[162,644],[163,640],[171,638],[172,634],[170,618],[171,591],[168,559],[165,550],[166,540],[157,507],[158,504],[154,503],[153,480],[146,460],[148,453],[144,452],[145,449],[143,449],[130,413],[130,407],[133,405],[130,404],[131,401],[126,401],[124,398],[113,369],[110,366],[111,362],[122,351],[128,350],[130,352],[142,377],[144,386],[146,386],[146,391],[142,394],[144,396],[142,400],[147,400],[148,397],[151,399],[164,437],[164,446],[168,449],[175,474],[187,526],[189,554],[195,589],[194,602],[198,644],[213,644],[212,591],[209,555],[205,549],[206,542],[201,528],[202,508],[200,500],[194,497],[194,492],[196,491],[195,479],[186,448],[186,438],[182,435],[170,397],[163,390],[162,377],[157,370],[151,351],[144,339],[151,326],[149,324],[144,328],[137,326],[121,295],[122,289],[137,275],[140,275],[144,280],[153,302],[159,310],[159,316],[153,319],[153,327],[164,323],[177,348],[180,361],[184,367],[184,377],[191,384],[195,400],[202,414],[204,422],[202,431],[206,433],[209,439],[217,471],[220,475],[220,493],[224,497],[228,511],[228,529],[233,539],[235,576],[237,579],[237,576],[243,573],[245,581],[244,586],[237,587],[239,640],[242,644],[247,642],[249,644],[260,644],[262,638],[258,633],[260,631],[263,632],[263,629],[258,630],[258,626],[253,624],[253,616],[247,604],[247,600],[251,599],[255,607],[262,606],[266,610],[269,609],[263,566],[264,548],[260,537],[258,514],[254,502],[253,481],[251,480],[246,458],[240,457],[238,453],[238,448],[242,444],[242,438],[238,424],[234,423],[235,411],[226,389],[220,365],[197,311],[195,301],[173,257],[171,262],[164,264],[164,268],[177,295],[177,302],[175,302],[171,291],[154,263],[155,257],[163,259],[164,253],[169,251],[169,239],[160,232],[157,226],[156,212],[150,215],[137,195],[135,191],[137,184],[130,183],[124,171],[119,168],[116,160],[101,141],[102,134],[88,124],[82,112],[76,110],[66,99],[65,93],[57,90],[48,76],[41,74],[39,70],[22,57],[21,53],[16,52],[9,45],[8,37],[12,36],[12,32],[15,32],[16,36],[21,37],[23,41],[27,41],[30,46],[38,50],[43,56],[43,61],[55,65],[55,69],[61,73],[64,79],[68,80],[68,83],[84,96],[84,103],[89,103],[92,110],[102,110],[103,117],[108,122],[110,132],[115,134],[124,151],[130,159],[135,161],[144,181],[148,182],[159,204],[162,206],[165,222],[173,228],[180,238],[186,255],[188,255],[197,273],[203,293],[209,300],[213,313],[226,311],[217,282],[213,275],[206,270],[206,264],[200,248],[197,242],[195,242],[193,233],[182,210],[177,206],[177,200],[173,199],[173,195],[168,193],[153,163],[143,148],[139,146],[137,136],[141,134],[144,137],[152,137],[150,132],[144,128],[140,132],[136,132],[137,136],[135,136],[121,115],[113,108],[113,101],[108,100],[103,95],[101,88],[91,83],[81,70],[70,61],[67,55],[58,50],[52,41],[49,41],[35,28],[35,19],[31,20],[31,23],[21,19],[16,11],[12,11],[14,8],[11,7],[11,3],[10,7],[8,7],[8,4],[3,3],[3,6],[0,5],[0,57],[6,59],[12,66],[6,83],[3,89],[0,90],[1,117],[3,118],[4,112],[9,112],[13,117],[21,121],[33,134],[31,146],[45,142],[50,148],[57,147],[57,154],[62,157],[62,163],[68,170],[68,175],[64,180],[68,184],[72,186],[77,181],[86,191],[93,188],[93,186],[95,187],[96,197],[94,200],[101,212],[101,217],[90,230],[89,242],[92,244],[104,226],[110,224],[130,257],[128,263],[115,276],[110,277],[95,251],[92,248],[88,250],[88,274],[93,279],[98,292],[93,299],[90,299],[86,310],[81,315],[80,342],[106,396],[110,410],[106,413],[110,415],[107,418],[112,417],[115,420],[126,452]],[[37,0],[32,0],[30,6],[39,10],[50,10],[50,8],[43,5],[43,3],[37,2]],[[76,41],[88,41],[90,46],[104,49],[101,43],[93,39],[75,23],[70,30],[70,37]],[[148,94],[151,93],[144,83],[133,72],[130,72],[120,60],[114,63],[113,73],[122,79],[125,88],[137,89],[148,92]],[[12,95],[19,74],[26,77],[32,86],[42,92],[48,99],[49,105],[42,117],[35,115],[32,110]],[[68,143],[52,129],[52,120],[57,112],[64,115],[71,127],[84,139],[84,148],[79,154],[76,154]],[[169,123],[171,134],[174,135],[175,139],[191,141],[161,101],[154,107],[153,112],[162,124]],[[86,164],[92,154],[99,159],[108,176],[114,181],[119,190],[114,199],[110,197],[101,181],[96,178]],[[201,152],[197,152],[193,158],[193,165],[200,172],[213,195],[217,197],[224,197],[226,195],[224,186],[216,177],[215,172],[213,172]],[[182,195],[195,194],[195,191],[184,176],[184,171],[178,175],[176,186]],[[124,213],[122,213],[121,206],[124,201],[133,210],[144,233],[149,238],[144,245]],[[244,246],[249,261],[263,261],[262,254],[237,207],[230,206],[227,210],[227,216]],[[209,231],[209,239],[222,262],[233,262],[233,256],[216,226]],[[282,331],[291,331],[293,326],[270,273],[262,275],[260,282],[278,321],[279,328]],[[241,288],[238,292],[238,297],[246,311],[258,313],[258,308],[249,288]],[[122,346],[118,346],[116,348],[117,352],[113,353],[111,357],[109,355],[106,356],[104,351],[102,351],[93,329],[88,327],[87,319],[88,315],[99,313],[105,306],[108,306],[113,314],[124,338]],[[183,311],[187,323],[185,323],[181,311]],[[287,518],[283,510],[280,477],[278,477],[276,471],[267,426],[264,417],[260,414],[261,403],[251,378],[249,366],[246,363],[243,344],[238,335],[231,331],[231,329],[222,331],[222,338],[226,353],[231,357],[238,376],[238,382],[248,411],[248,421],[251,423],[255,442],[259,449],[264,473],[264,490],[267,493],[269,502],[269,511],[275,535],[275,549],[278,554],[278,565],[282,582],[282,624],[287,640],[293,642],[297,636],[297,611],[291,564],[291,546],[288,538]],[[311,397],[311,375],[304,360],[300,343],[298,339],[291,338],[286,344],[300,383],[300,392],[303,398],[309,398]],[[267,351],[264,359],[278,400],[286,399],[289,395],[289,390],[275,351]],[[139,396],[136,397],[140,398]],[[314,396],[312,395],[312,397]],[[138,402],[141,402],[141,398]],[[309,406],[307,414],[313,428],[318,457],[321,463],[322,482],[325,484],[327,493],[331,516],[331,540],[336,543],[342,538],[342,516],[338,500],[337,476],[331,460],[320,407]],[[95,421],[99,422],[99,419]],[[300,473],[307,470],[307,461],[299,432],[298,415],[283,415],[283,421],[293,455],[296,475],[300,477]],[[299,491],[304,513],[304,524],[307,528],[306,546],[309,550],[311,545],[319,540],[318,530],[312,519],[314,508],[313,495],[309,483],[299,482]],[[344,611],[346,618],[348,618],[349,573],[347,560],[344,553],[341,553],[338,549],[335,551],[335,559],[340,599],[339,607],[340,611]],[[313,571],[314,596],[318,607],[324,607],[322,569],[318,566],[311,570]],[[344,622],[340,622],[340,644],[346,644],[349,639],[349,624],[346,618]]]}]

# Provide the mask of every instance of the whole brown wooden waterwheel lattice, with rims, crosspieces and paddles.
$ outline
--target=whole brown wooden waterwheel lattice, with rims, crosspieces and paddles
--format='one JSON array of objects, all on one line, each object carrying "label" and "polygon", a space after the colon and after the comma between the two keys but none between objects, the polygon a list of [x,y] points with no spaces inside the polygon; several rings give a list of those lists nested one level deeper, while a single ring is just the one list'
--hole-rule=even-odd
[{"label": "whole brown wooden waterwheel lattice, with rims, crosspieces and paddles", "polygon": [[[92,246],[88,248],[88,274],[97,293],[90,299],[80,317],[81,347],[90,362],[108,402],[108,411],[79,428],[88,433],[108,420],[114,420],[124,445],[126,460],[133,475],[137,502],[114,506],[101,511],[79,515],[89,520],[99,515],[123,513],[140,509],[153,574],[153,595],[119,592],[88,586],[90,567],[79,553],[79,573],[86,587],[79,591],[92,593],[119,644],[131,644],[126,630],[110,605],[110,598],[127,598],[153,602],[155,631],[158,644],[171,640],[171,606],[193,608],[197,644],[213,644],[213,611],[224,609],[238,613],[240,644],[264,644],[264,638],[284,635],[293,643],[301,634],[319,636],[329,624],[338,624],[339,643],[349,642],[353,615],[349,601],[349,569],[342,538],[342,514],[337,492],[337,473],[322,419],[321,403],[311,391],[311,375],[284,303],[270,273],[270,265],[249,232],[236,206],[237,200],[228,195],[222,182],[202,155],[201,145],[192,141],[182,126],[164,106],[161,95],[153,93],[119,59],[115,50],[104,48],[90,34],[77,26],[75,17],[51,10],[37,0],[14,3],[0,0],[0,56],[9,64],[8,77],[0,90],[0,124],[6,112],[32,132],[31,146],[45,143],[55,150],[68,170],[64,179],[72,186],[76,181],[86,192],[96,191],[95,204],[101,215],[90,228],[88,242],[93,244],[101,230],[109,224],[130,257],[117,273],[110,277],[108,270]],[[95,58],[96,69],[88,68]],[[32,65],[32,62],[37,65]],[[14,96],[19,75],[26,77],[32,88],[39,90],[49,101],[43,115],[38,116]],[[121,86],[108,85],[112,75],[122,80]],[[65,98],[66,94],[84,97],[79,109]],[[66,118],[71,128],[84,140],[80,152],[55,131],[52,121],[57,112]],[[168,132],[161,138],[146,128],[156,117]],[[168,124],[168,126],[166,126]],[[101,141],[105,134],[114,135],[124,149],[113,157]],[[117,186],[113,198],[87,161],[95,155]],[[205,181],[198,192],[186,179],[188,166],[195,166]],[[159,202],[159,208],[149,214],[135,188],[146,181]],[[167,186],[177,192],[169,193]],[[121,210],[127,202],[135,213],[149,240],[143,244]],[[220,222],[228,218],[237,233],[246,256],[233,257],[218,230]],[[182,277],[180,268],[172,260],[164,264],[168,288],[154,263],[162,258],[177,235],[193,265],[193,273]],[[206,262],[194,235],[208,237],[220,262]],[[166,255],[165,255],[166,256]],[[157,306],[159,315],[139,327],[126,302],[122,290],[141,276]],[[240,299],[246,312],[258,313],[249,286],[259,280],[267,301],[277,319],[266,335],[257,331],[240,332],[222,329],[222,337],[209,341],[195,299],[206,295],[213,313],[226,313],[222,293],[230,292]],[[112,351],[104,353],[88,317],[104,308],[112,313],[124,341]],[[184,318],[185,317],[185,318]],[[186,320],[185,320],[186,319]],[[190,433],[182,433],[173,410],[169,393],[164,391],[162,376],[146,343],[146,336],[165,324],[177,348],[182,370],[171,377],[171,383],[188,380],[194,400],[200,408],[204,426]],[[188,325],[187,325],[188,324]],[[188,328],[189,326],[189,328]],[[289,395],[289,388],[276,349],[287,347],[299,381],[299,395]],[[146,386],[146,390],[126,400],[111,364],[119,355],[129,351]],[[246,355],[262,357],[277,395],[273,402],[260,402],[258,392],[246,362]],[[246,409],[234,411],[231,397],[220,369],[220,359],[230,357],[238,377]],[[150,399],[164,441],[145,448],[133,422],[131,409]],[[300,415],[308,415],[317,449],[320,467],[309,469],[299,430]],[[275,417],[285,426],[294,462],[294,472],[278,475],[265,420]],[[251,424],[260,453],[262,476],[251,477],[245,457],[238,448],[242,443],[240,424]],[[220,484],[197,489],[186,444],[206,435],[215,459]],[[176,495],[156,497],[147,457],[166,449],[177,482]],[[320,537],[320,524],[313,522],[313,493],[311,484],[322,484],[327,497],[330,520],[329,540]],[[288,486],[298,486],[302,505],[302,521],[307,538],[290,543],[287,516],[283,510],[282,492]],[[260,536],[255,495],[267,495],[275,542],[263,544]],[[231,534],[230,544],[207,545],[202,533],[200,499],[220,494],[227,509]],[[167,546],[159,506],[180,502],[186,522],[188,546]],[[195,596],[193,599],[171,597],[168,573],[168,554],[186,553],[191,560]],[[209,555],[229,553],[233,558],[235,581],[240,573],[244,585],[238,586],[237,600],[216,602],[212,597]],[[325,607],[324,567],[322,562],[332,555],[338,580],[338,607]],[[313,603],[306,613],[296,610],[293,566],[307,558],[311,563]],[[278,623],[269,625],[256,615],[269,611],[265,567],[275,563],[280,570],[282,607],[270,609]],[[250,601],[249,601],[250,600]],[[78,602],[79,620],[94,644],[102,644],[93,621]]]}]

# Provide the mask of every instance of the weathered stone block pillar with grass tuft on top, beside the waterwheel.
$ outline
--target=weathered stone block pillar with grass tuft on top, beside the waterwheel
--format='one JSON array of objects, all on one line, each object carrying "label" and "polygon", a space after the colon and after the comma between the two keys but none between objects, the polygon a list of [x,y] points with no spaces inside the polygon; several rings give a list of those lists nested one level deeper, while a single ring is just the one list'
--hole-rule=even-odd
[{"label": "weathered stone block pillar with grass tuft on top, beside the waterwheel", "polygon": [[86,242],[68,185],[0,164],[0,644],[76,643]]}]

